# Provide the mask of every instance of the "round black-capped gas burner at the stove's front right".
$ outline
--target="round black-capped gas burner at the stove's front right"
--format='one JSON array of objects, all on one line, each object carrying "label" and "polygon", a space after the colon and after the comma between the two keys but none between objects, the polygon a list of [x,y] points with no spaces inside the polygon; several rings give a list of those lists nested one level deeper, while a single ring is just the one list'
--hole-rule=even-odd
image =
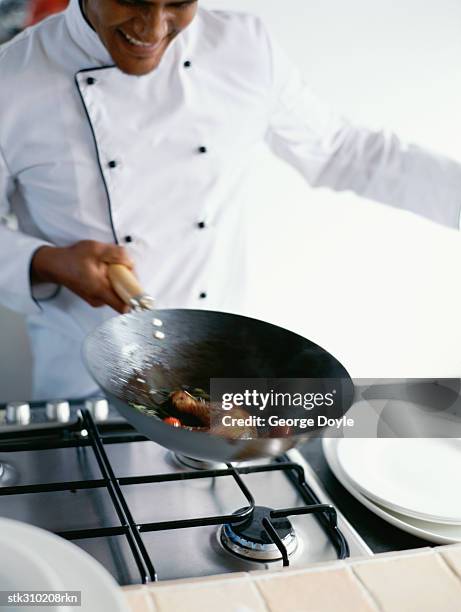
[{"label": "round black-capped gas burner at the stove's front right", "polygon": [[[298,540],[293,526],[287,518],[272,518],[271,508],[256,506],[253,515],[243,523],[227,524],[221,527],[221,544],[229,552],[251,561],[279,561],[279,549],[264,528],[263,519],[269,519],[278,533],[288,555],[292,555]],[[239,511],[240,512],[240,511]]]}]

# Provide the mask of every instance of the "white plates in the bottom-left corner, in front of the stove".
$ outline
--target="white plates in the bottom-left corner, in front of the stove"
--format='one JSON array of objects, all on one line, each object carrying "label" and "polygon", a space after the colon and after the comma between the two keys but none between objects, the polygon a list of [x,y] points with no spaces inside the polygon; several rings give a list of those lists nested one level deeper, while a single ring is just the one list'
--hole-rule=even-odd
[{"label": "white plates in the bottom-left corner, in front of the stove", "polygon": [[[122,590],[102,565],[48,531],[0,519],[0,559],[2,591],[81,591],[81,612],[127,612]],[[39,609],[66,612],[72,608],[56,605]],[[37,608],[24,606],[21,610]]]}]

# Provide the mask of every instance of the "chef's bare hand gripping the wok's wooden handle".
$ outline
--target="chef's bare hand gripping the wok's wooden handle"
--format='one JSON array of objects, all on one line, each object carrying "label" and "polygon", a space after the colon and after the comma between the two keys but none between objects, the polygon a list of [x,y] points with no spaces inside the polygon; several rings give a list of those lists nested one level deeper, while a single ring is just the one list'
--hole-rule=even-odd
[{"label": "chef's bare hand gripping the wok's wooden handle", "polygon": [[44,246],[32,258],[32,284],[64,285],[90,306],[107,305],[124,314],[130,308],[112,289],[109,264],[122,264],[130,270],[134,266],[125,249],[114,244],[84,240],[64,248]]}]

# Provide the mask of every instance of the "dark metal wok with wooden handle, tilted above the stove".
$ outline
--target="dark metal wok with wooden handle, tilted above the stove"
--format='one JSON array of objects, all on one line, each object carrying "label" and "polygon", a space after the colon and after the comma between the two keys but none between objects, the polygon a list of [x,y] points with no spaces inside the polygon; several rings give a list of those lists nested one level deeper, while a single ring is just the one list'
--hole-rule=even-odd
[{"label": "dark metal wok with wooden handle, tilted above the stove", "polygon": [[[148,296],[126,269],[112,266],[111,271],[112,284],[127,303],[150,306]],[[163,321],[163,339],[154,335],[154,317]],[[93,331],[84,342],[83,356],[108,399],[140,433],[173,451],[204,460],[278,456],[318,434],[318,429],[285,437],[230,440],[172,427],[131,403],[151,403],[152,391],[157,389],[208,390],[210,379],[341,379],[342,416],[354,394],[345,368],[317,344],[270,323],[222,312],[138,309]]]}]

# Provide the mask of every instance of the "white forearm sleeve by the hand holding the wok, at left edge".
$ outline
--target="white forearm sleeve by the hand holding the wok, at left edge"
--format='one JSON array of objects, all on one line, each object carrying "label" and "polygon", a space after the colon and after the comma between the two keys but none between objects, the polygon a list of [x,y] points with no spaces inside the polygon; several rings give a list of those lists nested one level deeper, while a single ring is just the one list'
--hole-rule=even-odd
[{"label": "white forearm sleeve by the hand holding the wok, at left edge", "polygon": [[7,224],[14,189],[14,177],[0,149],[0,303],[17,312],[35,314],[41,310],[38,299],[43,296],[40,291],[49,291],[50,286],[39,286],[38,293],[33,293],[30,264],[37,249],[49,243],[11,229]]}]

